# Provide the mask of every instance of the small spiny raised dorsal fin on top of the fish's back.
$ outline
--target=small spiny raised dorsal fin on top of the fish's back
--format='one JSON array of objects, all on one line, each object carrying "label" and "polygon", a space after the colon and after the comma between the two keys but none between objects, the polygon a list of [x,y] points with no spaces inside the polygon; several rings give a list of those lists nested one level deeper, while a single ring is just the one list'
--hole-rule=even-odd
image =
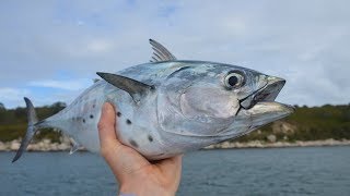
[{"label": "small spiny raised dorsal fin on top of the fish's back", "polygon": [[152,45],[153,49],[152,59],[150,60],[151,62],[176,60],[175,56],[173,56],[163,45],[153,39],[150,39],[150,44]]}]

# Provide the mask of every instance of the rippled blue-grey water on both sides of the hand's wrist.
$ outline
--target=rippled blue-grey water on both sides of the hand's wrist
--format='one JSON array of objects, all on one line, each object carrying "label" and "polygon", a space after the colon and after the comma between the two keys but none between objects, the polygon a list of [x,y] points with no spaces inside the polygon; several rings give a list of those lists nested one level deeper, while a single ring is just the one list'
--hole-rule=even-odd
[{"label": "rippled blue-grey water on both sides of the hand's wrist", "polygon": [[[0,152],[0,195],[116,195],[90,152]],[[177,195],[350,195],[350,146],[201,150],[184,157]]]}]

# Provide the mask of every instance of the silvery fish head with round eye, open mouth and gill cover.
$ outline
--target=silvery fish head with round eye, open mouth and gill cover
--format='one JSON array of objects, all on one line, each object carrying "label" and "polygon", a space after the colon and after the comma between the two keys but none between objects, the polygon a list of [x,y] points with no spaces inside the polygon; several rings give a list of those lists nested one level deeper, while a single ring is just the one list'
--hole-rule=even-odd
[{"label": "silvery fish head with round eye, open mouth and gill cover", "polygon": [[161,122],[176,121],[168,130],[180,128],[192,136],[242,135],[292,112],[291,107],[275,102],[284,84],[282,78],[241,66],[189,63],[162,84],[161,95],[166,98],[160,102],[166,110],[160,112]]}]

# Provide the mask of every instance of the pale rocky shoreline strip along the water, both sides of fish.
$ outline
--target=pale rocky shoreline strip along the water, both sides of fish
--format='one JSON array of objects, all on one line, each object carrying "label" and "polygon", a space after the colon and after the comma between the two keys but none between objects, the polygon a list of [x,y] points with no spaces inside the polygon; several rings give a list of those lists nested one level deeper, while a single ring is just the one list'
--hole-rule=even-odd
[{"label": "pale rocky shoreline strip along the water, both sides of fish", "polygon": [[[0,151],[16,151],[20,148],[20,140],[12,140],[2,143],[0,142]],[[326,140],[307,140],[295,143],[276,142],[267,143],[261,140],[252,140],[247,143],[240,142],[223,142],[217,145],[208,146],[203,149],[240,149],[240,148],[285,148],[285,147],[312,147],[312,146],[348,146],[350,140],[342,139],[336,140],[332,138]],[[71,149],[70,143],[51,143],[49,139],[43,139],[38,143],[31,144],[27,148],[28,151],[69,151]],[[81,148],[80,150],[85,150]]]}]

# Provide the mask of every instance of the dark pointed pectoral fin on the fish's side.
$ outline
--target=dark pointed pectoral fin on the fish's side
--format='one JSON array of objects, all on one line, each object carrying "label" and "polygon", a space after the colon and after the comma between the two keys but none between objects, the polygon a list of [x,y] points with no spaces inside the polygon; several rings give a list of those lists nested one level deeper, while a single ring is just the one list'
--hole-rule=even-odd
[{"label": "dark pointed pectoral fin on the fish's side", "polygon": [[135,81],[126,76],[102,72],[97,72],[97,75],[100,75],[103,79],[105,79],[113,86],[130,94],[130,96],[137,103],[141,100],[142,96],[145,96],[148,93],[154,89],[154,86]]}]

